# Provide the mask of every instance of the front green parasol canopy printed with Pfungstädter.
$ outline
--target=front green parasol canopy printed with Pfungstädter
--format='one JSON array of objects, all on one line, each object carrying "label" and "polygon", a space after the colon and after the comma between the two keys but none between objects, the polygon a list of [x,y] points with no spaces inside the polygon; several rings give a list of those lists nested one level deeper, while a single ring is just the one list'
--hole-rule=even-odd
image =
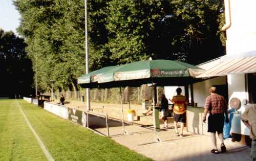
[{"label": "front green parasol canopy printed with Pfungst\u00e4dter", "polygon": [[140,86],[147,83],[183,85],[197,81],[195,77],[202,72],[202,68],[184,62],[145,60],[106,71],[98,77],[98,84],[101,87]]}]

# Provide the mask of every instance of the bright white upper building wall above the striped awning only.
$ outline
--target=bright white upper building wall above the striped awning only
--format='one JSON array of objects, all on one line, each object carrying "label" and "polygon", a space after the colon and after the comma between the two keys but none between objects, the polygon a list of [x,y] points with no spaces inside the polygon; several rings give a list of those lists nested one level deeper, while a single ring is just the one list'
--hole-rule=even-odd
[{"label": "bright white upper building wall above the striped awning only", "polygon": [[256,51],[256,1],[229,0],[229,3],[231,26],[226,30],[227,55]]}]

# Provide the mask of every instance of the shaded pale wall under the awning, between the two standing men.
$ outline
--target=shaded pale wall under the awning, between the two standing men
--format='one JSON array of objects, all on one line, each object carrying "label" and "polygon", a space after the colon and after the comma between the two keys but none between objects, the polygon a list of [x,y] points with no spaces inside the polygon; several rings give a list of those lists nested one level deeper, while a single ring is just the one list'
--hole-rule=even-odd
[{"label": "shaded pale wall under the awning, between the two standing men", "polygon": [[212,85],[226,84],[226,77],[217,77],[193,84],[194,102],[198,107],[204,107],[205,99],[209,96],[209,89]]}]

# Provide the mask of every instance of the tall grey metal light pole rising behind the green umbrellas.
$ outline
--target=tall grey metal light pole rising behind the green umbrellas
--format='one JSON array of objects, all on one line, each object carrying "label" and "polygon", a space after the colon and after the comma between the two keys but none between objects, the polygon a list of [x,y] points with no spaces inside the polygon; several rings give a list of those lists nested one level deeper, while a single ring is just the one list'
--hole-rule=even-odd
[{"label": "tall grey metal light pole rising behind the green umbrellas", "polygon": [[[89,57],[88,57],[88,30],[87,30],[87,0],[84,0],[84,18],[85,18],[85,28],[86,28],[86,74],[89,73]],[[91,110],[90,106],[90,89],[86,88],[86,106],[87,110]]]}]

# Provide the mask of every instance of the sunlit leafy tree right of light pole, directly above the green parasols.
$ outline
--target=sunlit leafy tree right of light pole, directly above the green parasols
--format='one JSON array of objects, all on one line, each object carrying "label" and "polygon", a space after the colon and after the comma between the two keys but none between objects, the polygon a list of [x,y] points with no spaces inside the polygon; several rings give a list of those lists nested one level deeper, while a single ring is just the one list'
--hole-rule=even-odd
[{"label": "sunlit leafy tree right of light pole, directly above the green parasols", "polygon": [[167,1],[118,1],[108,3],[106,28],[108,48],[118,63],[145,60],[156,53],[151,49],[158,21],[169,10]]}]

